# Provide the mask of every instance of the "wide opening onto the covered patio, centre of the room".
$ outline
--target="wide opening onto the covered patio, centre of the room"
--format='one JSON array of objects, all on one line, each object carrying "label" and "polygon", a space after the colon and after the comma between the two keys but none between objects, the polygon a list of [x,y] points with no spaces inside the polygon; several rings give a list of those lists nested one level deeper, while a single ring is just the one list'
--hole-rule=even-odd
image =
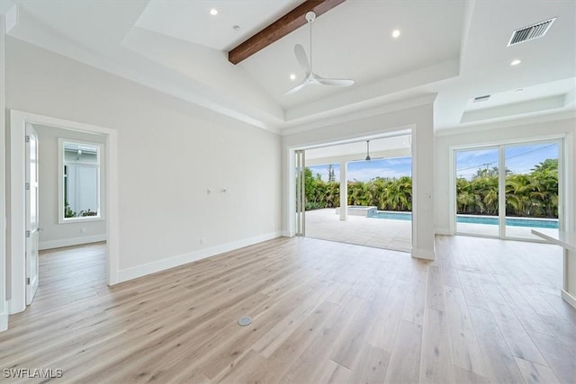
[{"label": "wide opening onto the covered patio, centre of the room", "polygon": [[306,237],[410,252],[410,134],[310,148],[302,169]]}]

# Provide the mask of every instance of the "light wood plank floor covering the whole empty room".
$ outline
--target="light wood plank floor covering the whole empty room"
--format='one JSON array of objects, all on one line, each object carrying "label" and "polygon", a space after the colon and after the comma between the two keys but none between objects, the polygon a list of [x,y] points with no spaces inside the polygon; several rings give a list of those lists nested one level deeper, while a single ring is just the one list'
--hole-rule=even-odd
[{"label": "light wood plank floor covering the whole empty room", "polygon": [[[425,263],[280,238],[113,288],[103,253],[40,256],[34,303],[0,334],[0,371],[94,383],[576,379],[576,311],[560,299],[554,246],[438,237]],[[237,325],[244,315],[251,326]]]}]

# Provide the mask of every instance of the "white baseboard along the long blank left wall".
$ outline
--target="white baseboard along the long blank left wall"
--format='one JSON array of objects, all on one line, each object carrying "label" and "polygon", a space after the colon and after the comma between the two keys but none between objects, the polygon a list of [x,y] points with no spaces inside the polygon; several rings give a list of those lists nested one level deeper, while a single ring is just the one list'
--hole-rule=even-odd
[{"label": "white baseboard along the long blank left wall", "polygon": [[169,257],[167,259],[158,260],[157,262],[146,263],[135,267],[126,268],[118,271],[118,282],[129,281],[142,276],[146,276],[150,273],[165,271],[167,269],[174,268],[179,265],[192,263],[214,255],[220,255],[225,252],[242,248],[244,246],[252,246],[254,244],[262,243],[263,241],[272,240],[273,238],[281,236],[282,233],[280,231],[272,232],[266,235],[249,237],[243,240],[235,241],[233,243],[223,244],[221,246],[213,246],[211,248],[201,249],[199,251],[195,251],[190,254],[177,255],[174,257]]}]

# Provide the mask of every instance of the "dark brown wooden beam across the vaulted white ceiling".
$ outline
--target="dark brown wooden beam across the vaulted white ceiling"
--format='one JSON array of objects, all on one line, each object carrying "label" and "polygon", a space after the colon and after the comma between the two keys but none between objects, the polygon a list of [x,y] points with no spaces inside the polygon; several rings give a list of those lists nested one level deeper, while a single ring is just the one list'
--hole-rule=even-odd
[{"label": "dark brown wooden beam across the vaulted white ceiling", "polygon": [[284,14],[280,19],[268,25],[264,30],[257,32],[254,36],[244,41],[236,48],[228,52],[228,60],[232,64],[238,64],[245,58],[254,55],[260,49],[264,49],[276,40],[282,39],[288,33],[296,31],[306,24],[306,13],[314,12],[316,16],[327,13],[330,9],[346,0],[307,0],[298,5],[289,13]]}]

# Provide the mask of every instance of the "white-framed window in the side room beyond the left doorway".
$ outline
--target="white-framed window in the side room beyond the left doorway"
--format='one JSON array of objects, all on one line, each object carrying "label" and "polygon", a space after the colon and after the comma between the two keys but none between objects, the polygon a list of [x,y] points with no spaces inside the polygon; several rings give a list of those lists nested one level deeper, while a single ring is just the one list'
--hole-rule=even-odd
[{"label": "white-framed window in the side room beyond the left doorway", "polygon": [[101,219],[99,144],[60,138],[59,222]]}]

